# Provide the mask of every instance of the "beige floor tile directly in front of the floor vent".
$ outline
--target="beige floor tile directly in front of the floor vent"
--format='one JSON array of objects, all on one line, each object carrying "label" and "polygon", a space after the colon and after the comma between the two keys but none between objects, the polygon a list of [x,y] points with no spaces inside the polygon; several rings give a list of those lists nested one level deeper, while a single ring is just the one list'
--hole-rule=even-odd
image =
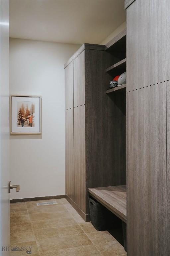
[{"label": "beige floor tile directly in front of the floor vent", "polygon": [[28,208],[29,214],[37,214],[37,213],[46,213],[46,212],[67,212],[67,209],[63,205],[53,205],[50,207],[39,206],[39,207],[30,207]]}]

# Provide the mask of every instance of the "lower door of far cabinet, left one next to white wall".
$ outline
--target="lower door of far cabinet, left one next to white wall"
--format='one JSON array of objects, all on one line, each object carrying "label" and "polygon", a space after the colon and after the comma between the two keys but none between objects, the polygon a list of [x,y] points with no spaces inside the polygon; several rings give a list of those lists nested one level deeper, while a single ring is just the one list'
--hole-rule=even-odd
[{"label": "lower door of far cabinet, left one next to white wall", "polygon": [[65,110],[65,193],[74,201],[73,108]]}]

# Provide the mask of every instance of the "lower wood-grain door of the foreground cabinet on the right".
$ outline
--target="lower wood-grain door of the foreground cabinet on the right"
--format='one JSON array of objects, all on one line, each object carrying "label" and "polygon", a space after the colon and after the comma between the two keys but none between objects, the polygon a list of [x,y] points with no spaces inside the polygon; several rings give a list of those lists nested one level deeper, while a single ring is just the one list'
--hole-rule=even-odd
[{"label": "lower wood-grain door of the foreground cabinet on the right", "polygon": [[127,95],[129,256],[167,255],[166,85]]}]

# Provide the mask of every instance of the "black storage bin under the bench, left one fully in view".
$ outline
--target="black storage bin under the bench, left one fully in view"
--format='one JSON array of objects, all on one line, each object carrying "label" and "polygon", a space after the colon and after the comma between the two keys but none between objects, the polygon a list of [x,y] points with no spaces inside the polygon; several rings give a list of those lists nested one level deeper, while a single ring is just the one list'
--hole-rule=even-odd
[{"label": "black storage bin under the bench, left one fully in view", "polygon": [[120,227],[121,220],[94,198],[89,197],[91,223],[95,229],[109,230]]}]

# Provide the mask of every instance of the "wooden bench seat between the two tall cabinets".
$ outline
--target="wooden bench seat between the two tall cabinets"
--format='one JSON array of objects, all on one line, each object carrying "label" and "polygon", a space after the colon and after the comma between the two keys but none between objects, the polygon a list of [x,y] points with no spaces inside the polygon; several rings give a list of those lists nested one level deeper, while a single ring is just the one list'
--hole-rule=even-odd
[{"label": "wooden bench seat between the two tall cabinets", "polygon": [[113,212],[122,221],[127,221],[127,192],[126,185],[89,188],[90,196]]}]

